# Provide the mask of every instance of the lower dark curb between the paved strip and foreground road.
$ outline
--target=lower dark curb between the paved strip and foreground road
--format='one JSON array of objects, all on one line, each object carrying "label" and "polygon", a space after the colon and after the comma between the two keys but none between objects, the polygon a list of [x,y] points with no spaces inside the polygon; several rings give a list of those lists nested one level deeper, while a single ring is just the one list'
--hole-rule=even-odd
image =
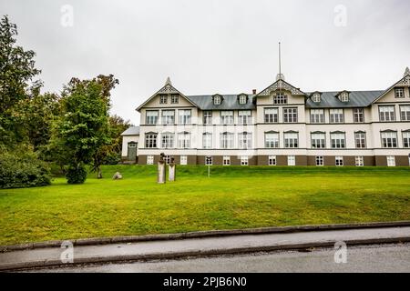
[{"label": "lower dark curb between the paved strip and foreground road", "polygon": [[[394,237],[394,238],[370,238],[370,239],[355,239],[345,240],[347,246],[358,245],[374,245],[374,244],[394,244],[410,242],[410,236]],[[94,257],[80,257],[74,259],[73,263],[62,264],[60,260],[39,260],[20,263],[9,263],[0,265],[0,271],[13,271],[18,269],[41,268],[51,266],[77,266],[82,264],[101,264],[101,263],[121,263],[141,260],[158,260],[158,259],[177,259],[189,256],[218,256],[218,255],[238,255],[258,252],[272,252],[281,250],[300,250],[308,248],[333,247],[334,241],[312,242],[303,244],[290,245],[273,245],[273,246],[247,246],[231,249],[215,249],[206,251],[187,251],[187,252],[169,252],[157,253],[148,255],[124,255],[124,256],[94,256]]]}]

